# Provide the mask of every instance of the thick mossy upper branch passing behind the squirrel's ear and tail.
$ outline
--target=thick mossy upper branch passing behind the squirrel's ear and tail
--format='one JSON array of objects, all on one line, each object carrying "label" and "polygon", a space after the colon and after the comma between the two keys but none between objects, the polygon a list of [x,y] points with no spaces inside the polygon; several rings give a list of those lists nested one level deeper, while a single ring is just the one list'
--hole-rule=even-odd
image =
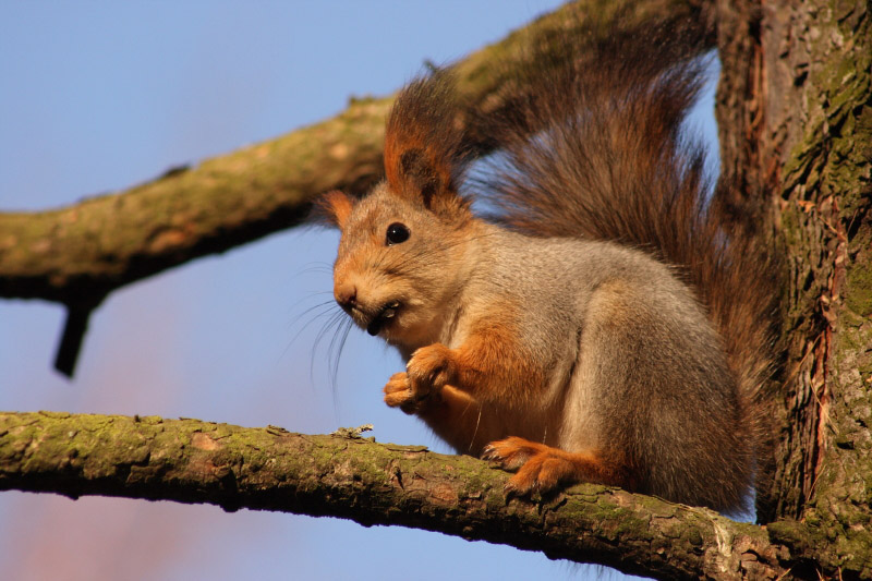
[{"label": "thick mossy upper branch passing behind the squirrel's ear and tail", "polygon": [[[523,47],[547,45],[558,27],[577,27],[583,45],[605,34],[617,14],[628,27],[678,20],[690,38],[704,38],[700,46],[712,46],[694,2],[585,0],[574,7],[582,16],[568,17],[572,8],[458,62],[470,107],[494,107]],[[334,119],[124,192],[56,210],[0,214],[0,296],[46,299],[86,313],[123,285],[299,223],[322,192],[361,193],[382,177],[390,101],[352,101]]]}]

